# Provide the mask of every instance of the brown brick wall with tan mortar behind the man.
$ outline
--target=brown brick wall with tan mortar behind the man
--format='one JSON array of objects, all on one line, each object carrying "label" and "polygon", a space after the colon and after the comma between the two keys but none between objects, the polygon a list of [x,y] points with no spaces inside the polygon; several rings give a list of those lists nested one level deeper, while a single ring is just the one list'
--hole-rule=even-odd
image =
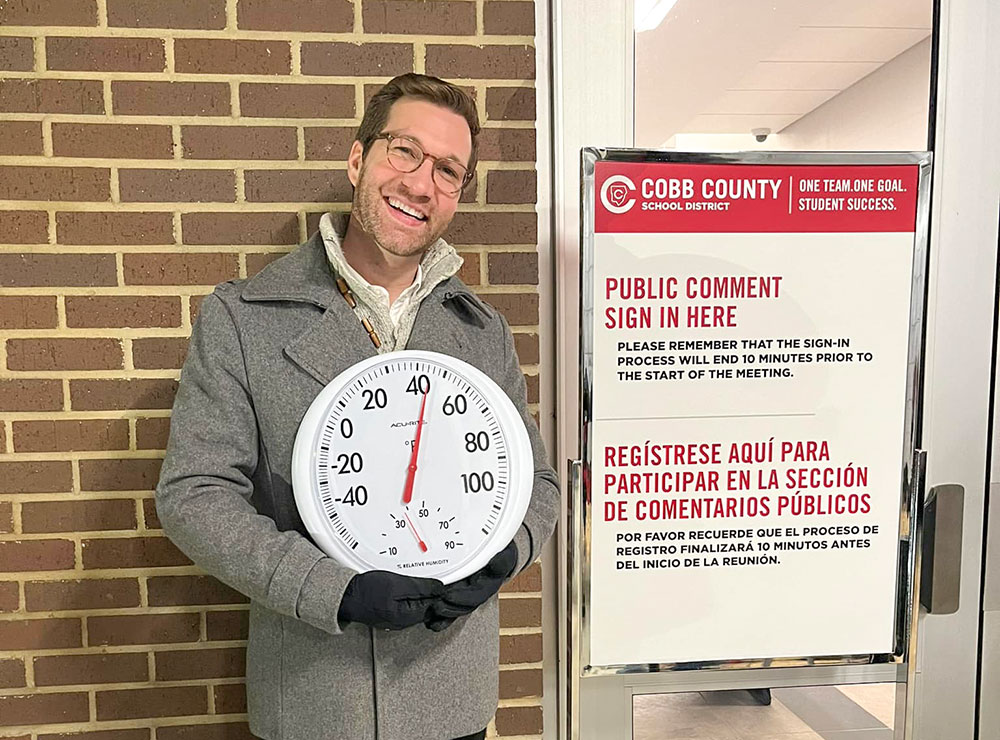
[{"label": "brown brick wall with tan mortar behind the man", "polygon": [[[450,239],[538,401],[534,7],[0,0],[0,737],[246,738],[244,599],[152,501],[200,298],[346,210],[363,102],[460,80]],[[491,735],[541,733],[541,574],[501,600]]]}]

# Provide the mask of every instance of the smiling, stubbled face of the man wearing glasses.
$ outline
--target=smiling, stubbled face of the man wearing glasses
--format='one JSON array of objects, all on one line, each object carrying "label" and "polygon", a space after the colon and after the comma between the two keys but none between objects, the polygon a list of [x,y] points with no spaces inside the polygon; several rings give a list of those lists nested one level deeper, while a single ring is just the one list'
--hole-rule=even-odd
[{"label": "smiling, stubbled face of the man wearing glasses", "polygon": [[[465,119],[424,100],[403,98],[393,103],[383,132],[409,137],[439,159],[465,165],[472,156]],[[385,139],[379,139],[364,158],[360,142],[351,147],[347,174],[354,185],[353,213],[382,249],[410,257],[423,253],[445,232],[461,194],[438,189],[429,156],[414,172],[398,172],[386,158],[387,146]]]}]

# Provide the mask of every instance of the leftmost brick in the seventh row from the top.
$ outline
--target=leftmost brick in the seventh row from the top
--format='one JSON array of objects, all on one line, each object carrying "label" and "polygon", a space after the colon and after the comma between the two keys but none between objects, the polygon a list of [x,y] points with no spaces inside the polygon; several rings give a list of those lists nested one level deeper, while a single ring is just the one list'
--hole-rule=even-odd
[{"label": "leftmost brick in the seventh row from the top", "polygon": [[0,287],[94,287],[117,282],[113,254],[0,252]]}]

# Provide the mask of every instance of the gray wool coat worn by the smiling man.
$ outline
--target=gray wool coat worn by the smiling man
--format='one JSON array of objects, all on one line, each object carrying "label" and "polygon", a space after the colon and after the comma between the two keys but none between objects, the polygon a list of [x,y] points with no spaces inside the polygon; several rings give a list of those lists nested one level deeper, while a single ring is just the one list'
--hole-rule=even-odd
[{"label": "gray wool coat worn by the smiling man", "polygon": [[[449,278],[421,303],[407,347],[469,362],[520,409],[535,459],[515,538],[524,568],[553,530],[559,494],[506,321]],[[497,598],[443,632],[341,624],[353,572],[313,544],[296,510],[299,422],[324,385],[373,354],[318,235],[218,286],[191,337],[157,512],[195,563],[250,598],[250,727],[266,740],[446,740],[496,711]]]}]

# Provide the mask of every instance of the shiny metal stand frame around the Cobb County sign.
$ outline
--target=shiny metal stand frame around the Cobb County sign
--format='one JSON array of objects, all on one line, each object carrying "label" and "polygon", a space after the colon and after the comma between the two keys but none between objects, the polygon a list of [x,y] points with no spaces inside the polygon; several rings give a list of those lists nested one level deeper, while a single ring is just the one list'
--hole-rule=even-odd
[{"label": "shiny metal stand frame around the Cobb County sign", "polygon": [[[752,165],[915,165],[919,168],[917,214],[913,245],[913,283],[910,293],[910,331],[907,351],[906,402],[903,433],[903,485],[900,491],[898,573],[894,650],[885,654],[774,657],[698,663],[644,663],[593,666],[590,664],[590,566],[592,502],[591,415],[593,388],[593,272],[595,167],[597,162],[671,162]],[[931,154],[927,152],[743,152],[691,154],[658,150],[585,148],[581,151],[581,270],[580,270],[580,459],[571,463],[568,502],[567,603],[569,640],[568,709],[570,737],[580,737],[580,682],[596,677],[629,676],[633,693],[747,686],[808,686],[835,682],[897,681],[907,684],[897,701],[897,726],[908,725],[912,710],[912,673],[915,666],[917,588],[920,582],[920,533],[925,454],[920,440],[923,380],[924,314],[928,257]],[[823,671],[821,668],[830,670]],[[692,673],[698,674],[697,676]],[[649,676],[635,685],[637,674]],[[739,678],[737,678],[739,674]],[[765,678],[763,674],[767,674]],[[780,674],[780,675],[779,675]],[[847,681],[841,680],[850,676]],[[901,680],[902,679],[902,680]],[[734,686],[735,680],[735,686]],[[790,682],[789,682],[790,681]],[[653,687],[655,684],[655,688]],[[672,688],[674,687],[674,688]],[[685,688],[686,687],[686,688]],[[630,689],[630,690],[633,690]],[[906,735],[909,737],[909,735]]]}]

